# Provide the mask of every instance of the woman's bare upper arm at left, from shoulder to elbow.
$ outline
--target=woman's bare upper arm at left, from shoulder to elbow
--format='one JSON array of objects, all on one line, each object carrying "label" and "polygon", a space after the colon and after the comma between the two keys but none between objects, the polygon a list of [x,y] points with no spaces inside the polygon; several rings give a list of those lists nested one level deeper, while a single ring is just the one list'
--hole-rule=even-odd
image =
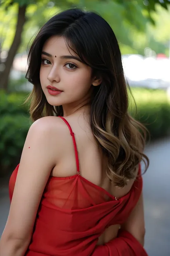
[{"label": "woman's bare upper arm at left, from shoulder to elbow", "polygon": [[46,120],[38,121],[30,127],[25,140],[3,233],[6,238],[30,240],[43,190],[55,166],[49,125]]}]

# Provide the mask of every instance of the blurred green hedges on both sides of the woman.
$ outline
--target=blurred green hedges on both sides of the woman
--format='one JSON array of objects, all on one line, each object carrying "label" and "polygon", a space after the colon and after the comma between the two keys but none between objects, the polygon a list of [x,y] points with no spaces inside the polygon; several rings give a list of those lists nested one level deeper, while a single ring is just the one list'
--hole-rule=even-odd
[{"label": "blurred green hedges on both sides of the woman", "polygon": [[[136,100],[130,97],[129,111],[144,123],[151,139],[170,134],[170,104],[161,90],[132,89]],[[19,162],[25,138],[31,125],[28,105],[23,105],[27,94],[6,94],[0,91],[0,175],[13,170]]]}]

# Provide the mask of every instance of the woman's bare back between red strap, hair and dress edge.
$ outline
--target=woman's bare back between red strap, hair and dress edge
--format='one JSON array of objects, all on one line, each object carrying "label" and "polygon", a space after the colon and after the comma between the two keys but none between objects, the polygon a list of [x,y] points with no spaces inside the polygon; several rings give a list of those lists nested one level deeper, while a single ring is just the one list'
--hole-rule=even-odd
[{"label": "woman's bare back between red strap, hair and dress edge", "polygon": [[[52,117],[54,118],[54,117]],[[126,195],[134,180],[129,180],[124,188],[117,188],[113,183],[110,183],[106,175],[107,157],[104,156],[101,147],[93,135],[88,117],[85,118],[83,114],[76,114],[65,118],[75,134],[77,150],[79,152],[79,165],[81,176],[89,180],[91,183],[105,189],[113,197],[117,199]],[[61,122],[63,122],[61,120]],[[76,161],[74,145],[69,133],[67,125],[63,124],[62,134],[60,136],[61,156],[56,154],[57,165],[51,172],[51,176],[68,177],[76,174]],[[57,144],[56,144],[57,148]],[[56,150],[58,152],[58,150]],[[136,168],[136,176],[138,173],[138,166]]]}]

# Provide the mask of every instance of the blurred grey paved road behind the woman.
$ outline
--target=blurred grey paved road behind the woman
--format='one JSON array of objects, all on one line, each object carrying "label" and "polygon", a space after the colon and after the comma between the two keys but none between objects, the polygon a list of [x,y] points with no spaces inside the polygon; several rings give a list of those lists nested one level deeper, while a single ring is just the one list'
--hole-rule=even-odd
[{"label": "blurred grey paved road behind the woman", "polygon": [[[170,138],[146,148],[150,167],[143,176],[146,237],[149,256],[170,255]],[[0,236],[9,211],[8,178],[0,181]]]}]

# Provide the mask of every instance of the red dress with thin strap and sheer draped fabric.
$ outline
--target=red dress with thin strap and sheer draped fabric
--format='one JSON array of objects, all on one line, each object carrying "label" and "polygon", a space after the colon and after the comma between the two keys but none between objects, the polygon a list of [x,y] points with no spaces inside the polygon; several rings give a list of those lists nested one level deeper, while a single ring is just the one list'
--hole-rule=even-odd
[{"label": "red dress with thin strap and sheer draped fabric", "polygon": [[[97,246],[98,237],[110,225],[122,224],[136,205],[142,190],[141,169],[128,194],[116,199],[105,189],[80,175],[79,158],[73,139],[77,174],[49,177],[38,208],[27,256],[147,256],[141,244],[128,232]],[[18,167],[9,181],[10,200]]]}]

